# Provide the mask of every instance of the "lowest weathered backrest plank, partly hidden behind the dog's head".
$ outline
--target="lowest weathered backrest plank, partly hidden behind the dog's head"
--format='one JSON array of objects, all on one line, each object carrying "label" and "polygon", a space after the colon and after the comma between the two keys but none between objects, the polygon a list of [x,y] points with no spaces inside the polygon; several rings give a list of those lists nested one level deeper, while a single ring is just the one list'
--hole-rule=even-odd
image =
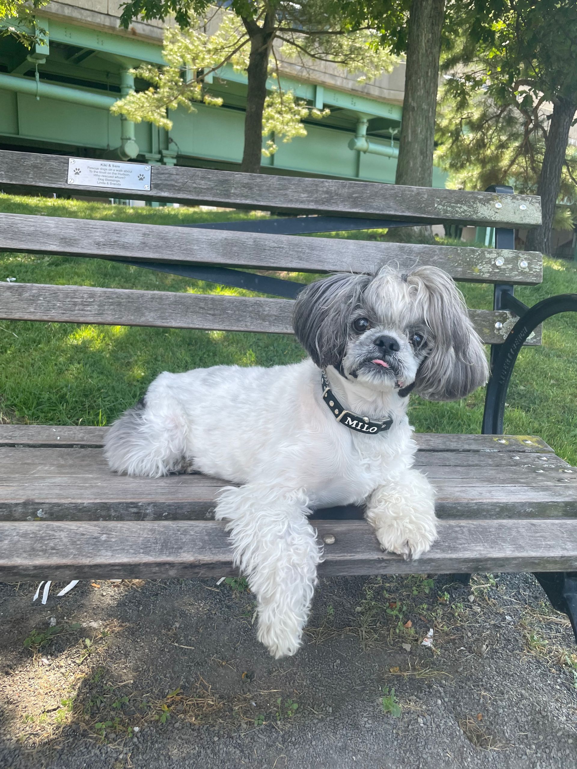
[{"label": "lowest weathered backrest plank, partly hidden behind the dog's head", "polygon": [[[135,291],[92,286],[0,283],[0,318],[102,325],[262,331],[292,334],[292,300]],[[512,327],[505,311],[469,310],[486,345],[500,345]],[[502,323],[496,329],[495,323]],[[528,345],[541,343],[540,329]]]}]

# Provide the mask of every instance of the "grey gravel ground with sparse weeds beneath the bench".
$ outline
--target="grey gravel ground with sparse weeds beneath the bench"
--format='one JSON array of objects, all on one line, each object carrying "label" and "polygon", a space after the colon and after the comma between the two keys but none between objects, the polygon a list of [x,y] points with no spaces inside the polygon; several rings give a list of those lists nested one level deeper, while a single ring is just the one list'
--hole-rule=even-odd
[{"label": "grey gravel ground with sparse weeds beneath the bench", "polygon": [[242,582],[35,587],[0,584],[2,769],[577,767],[577,647],[529,575],[324,579],[281,661]]}]

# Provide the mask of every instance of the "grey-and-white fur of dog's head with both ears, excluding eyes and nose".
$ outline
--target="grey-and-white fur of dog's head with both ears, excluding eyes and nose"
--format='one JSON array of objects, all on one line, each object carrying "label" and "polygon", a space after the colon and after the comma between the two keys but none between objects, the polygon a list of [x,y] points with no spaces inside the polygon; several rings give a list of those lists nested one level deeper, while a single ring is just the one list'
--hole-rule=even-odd
[{"label": "grey-and-white fur of dog's head with both ears, excluding eyes and nose", "polygon": [[[370,330],[362,334],[352,327],[359,316],[370,319]],[[347,378],[377,386],[390,384],[390,376],[375,366],[365,371],[363,365],[378,354],[379,335],[392,335],[399,351],[392,354],[391,370],[404,386],[414,382],[415,392],[431,401],[464,398],[489,375],[462,295],[452,278],[435,267],[403,274],[384,267],[315,281],[295,301],[293,327],[319,368],[335,366]],[[425,337],[420,348],[412,339],[415,329]]]}]

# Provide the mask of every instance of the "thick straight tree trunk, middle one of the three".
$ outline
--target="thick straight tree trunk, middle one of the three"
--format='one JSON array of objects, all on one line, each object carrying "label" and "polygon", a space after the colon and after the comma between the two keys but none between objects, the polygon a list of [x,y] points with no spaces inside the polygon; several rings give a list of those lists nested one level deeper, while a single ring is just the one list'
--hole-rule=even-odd
[{"label": "thick straight tree trunk, middle one of the three", "polygon": [[412,0],[395,184],[432,187],[445,0]]}]

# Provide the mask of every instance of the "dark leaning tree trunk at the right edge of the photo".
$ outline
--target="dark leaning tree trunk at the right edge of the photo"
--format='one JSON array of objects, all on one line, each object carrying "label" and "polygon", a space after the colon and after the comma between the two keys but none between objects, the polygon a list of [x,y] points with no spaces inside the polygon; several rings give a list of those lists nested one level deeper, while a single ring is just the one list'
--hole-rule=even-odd
[{"label": "dark leaning tree trunk at the right edge of the photo", "polygon": [[529,230],[525,246],[529,251],[542,251],[543,254],[551,253],[551,231],[555,205],[561,186],[561,171],[569,141],[569,128],[571,128],[575,110],[577,110],[575,102],[567,99],[560,98],[553,105],[545,155],[537,185],[537,195],[541,195],[543,223],[541,227]]}]

